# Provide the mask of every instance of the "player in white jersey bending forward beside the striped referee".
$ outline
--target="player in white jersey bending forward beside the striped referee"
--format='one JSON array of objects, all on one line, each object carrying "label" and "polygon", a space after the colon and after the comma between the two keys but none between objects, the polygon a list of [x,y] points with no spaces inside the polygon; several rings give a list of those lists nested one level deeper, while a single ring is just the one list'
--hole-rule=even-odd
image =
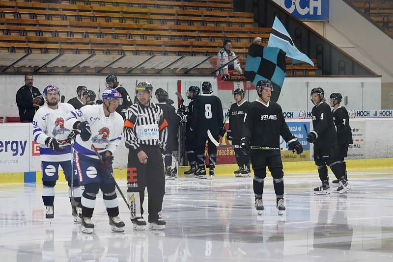
[{"label": "player in white jersey bending forward beside the striped referee", "polygon": [[[123,232],[124,222],[119,218],[119,206],[113,176],[113,153],[123,133],[123,118],[116,112],[122,104],[121,94],[115,89],[105,89],[102,105],[84,106],[70,112],[65,127],[79,134],[74,142],[74,172],[84,185],[82,194],[82,232],[93,233],[95,199],[99,189],[109,216],[112,231]],[[98,151],[104,165],[95,154]]]}]

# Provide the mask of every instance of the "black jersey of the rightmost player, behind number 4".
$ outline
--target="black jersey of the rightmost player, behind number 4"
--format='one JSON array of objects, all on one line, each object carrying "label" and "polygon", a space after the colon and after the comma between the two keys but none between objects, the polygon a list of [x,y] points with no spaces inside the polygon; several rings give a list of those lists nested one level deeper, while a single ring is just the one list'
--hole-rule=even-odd
[{"label": "black jersey of the rightmost player, behind number 4", "polygon": [[333,121],[337,130],[338,144],[353,144],[352,131],[349,126],[348,111],[344,106],[338,106],[333,109]]}]

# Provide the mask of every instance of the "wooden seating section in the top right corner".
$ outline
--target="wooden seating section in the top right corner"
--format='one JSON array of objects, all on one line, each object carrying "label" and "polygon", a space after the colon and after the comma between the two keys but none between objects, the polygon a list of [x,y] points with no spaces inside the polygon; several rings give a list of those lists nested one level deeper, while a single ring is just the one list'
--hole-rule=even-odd
[{"label": "wooden seating section in the top right corner", "polygon": [[393,37],[393,1],[349,0]]}]

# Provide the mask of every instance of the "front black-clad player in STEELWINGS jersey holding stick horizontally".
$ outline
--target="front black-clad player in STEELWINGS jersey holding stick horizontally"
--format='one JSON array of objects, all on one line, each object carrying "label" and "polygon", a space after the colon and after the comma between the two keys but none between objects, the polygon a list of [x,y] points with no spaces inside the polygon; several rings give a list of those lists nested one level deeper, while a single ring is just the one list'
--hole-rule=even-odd
[{"label": "front black-clad player in STEELWINGS jersey holding stick horizontally", "polygon": [[[286,125],[281,106],[270,101],[272,83],[268,80],[260,80],[256,85],[256,91],[259,100],[247,107],[247,115],[244,117],[243,138],[240,141],[243,149],[249,152],[250,146],[278,148],[280,147],[281,135],[290,150],[301,154],[303,147]],[[262,214],[262,210],[264,210],[262,194],[267,166],[273,177],[274,191],[277,198],[276,207],[279,210],[279,215],[282,215],[285,210],[284,173],[282,172],[280,151],[251,150],[250,158],[254,171],[255,208],[258,214]]]}]

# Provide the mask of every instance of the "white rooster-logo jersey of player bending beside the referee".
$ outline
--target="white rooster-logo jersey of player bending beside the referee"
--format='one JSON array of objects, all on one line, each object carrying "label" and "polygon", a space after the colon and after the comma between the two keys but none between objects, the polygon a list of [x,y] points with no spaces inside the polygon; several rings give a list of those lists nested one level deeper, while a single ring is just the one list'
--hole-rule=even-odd
[{"label": "white rooster-logo jersey of player bending beside the referee", "polygon": [[100,155],[105,151],[110,151],[113,155],[123,133],[124,121],[119,113],[114,112],[106,117],[102,105],[83,106],[67,115],[65,127],[72,130],[77,121],[86,121],[89,124],[91,137],[88,141],[82,141],[81,136],[77,135],[74,142],[75,151],[98,159],[91,148],[91,145],[94,145]]}]

